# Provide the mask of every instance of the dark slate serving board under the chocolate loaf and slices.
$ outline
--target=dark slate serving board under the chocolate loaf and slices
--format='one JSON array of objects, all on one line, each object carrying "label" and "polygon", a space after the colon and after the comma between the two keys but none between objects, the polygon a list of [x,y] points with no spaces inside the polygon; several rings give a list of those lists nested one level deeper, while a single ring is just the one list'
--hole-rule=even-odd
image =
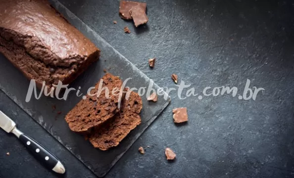
[{"label": "dark slate serving board under the chocolate loaf and slices", "polygon": [[[78,89],[81,86],[81,92],[86,93],[104,75],[103,69],[109,69],[109,67],[111,67],[109,72],[119,76],[122,80],[132,78],[128,81],[127,87],[148,87],[150,79],[145,74],[62,4],[55,0],[51,2],[71,24],[91,39],[102,51],[100,60],[93,64],[70,87]],[[81,97],[77,97],[72,92],[66,101],[42,96],[39,100],[32,98],[30,102],[25,102],[29,81],[1,54],[0,64],[0,89],[98,177],[104,176],[110,170],[170,102],[169,96],[167,100],[164,100],[163,96],[158,96],[156,103],[148,102],[147,98],[143,96],[142,124],[132,131],[118,147],[108,151],[100,151],[95,149],[82,135],[71,132],[63,119]],[[158,88],[156,84],[153,84],[153,89]],[[56,106],[55,110],[52,110],[52,105]],[[59,111],[62,113],[57,114]]]}]

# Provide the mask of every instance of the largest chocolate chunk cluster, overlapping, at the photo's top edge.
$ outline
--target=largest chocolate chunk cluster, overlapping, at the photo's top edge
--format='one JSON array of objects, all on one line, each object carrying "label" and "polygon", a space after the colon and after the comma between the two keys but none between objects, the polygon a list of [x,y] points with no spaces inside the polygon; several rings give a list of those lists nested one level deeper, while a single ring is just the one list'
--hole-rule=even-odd
[{"label": "largest chocolate chunk cluster, overlapping, at the photo's top edge", "polygon": [[138,27],[148,22],[146,15],[147,3],[121,0],[119,6],[120,17],[126,20],[134,20],[135,26]]}]

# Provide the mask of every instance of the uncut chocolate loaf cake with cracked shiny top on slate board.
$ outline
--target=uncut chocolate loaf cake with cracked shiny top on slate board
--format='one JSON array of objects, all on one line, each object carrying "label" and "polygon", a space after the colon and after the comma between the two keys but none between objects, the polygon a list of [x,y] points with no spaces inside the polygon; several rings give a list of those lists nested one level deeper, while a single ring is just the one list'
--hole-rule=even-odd
[{"label": "uncut chocolate loaf cake with cracked shiny top on slate board", "polygon": [[0,52],[39,88],[70,84],[99,57],[47,0],[0,0]]}]

